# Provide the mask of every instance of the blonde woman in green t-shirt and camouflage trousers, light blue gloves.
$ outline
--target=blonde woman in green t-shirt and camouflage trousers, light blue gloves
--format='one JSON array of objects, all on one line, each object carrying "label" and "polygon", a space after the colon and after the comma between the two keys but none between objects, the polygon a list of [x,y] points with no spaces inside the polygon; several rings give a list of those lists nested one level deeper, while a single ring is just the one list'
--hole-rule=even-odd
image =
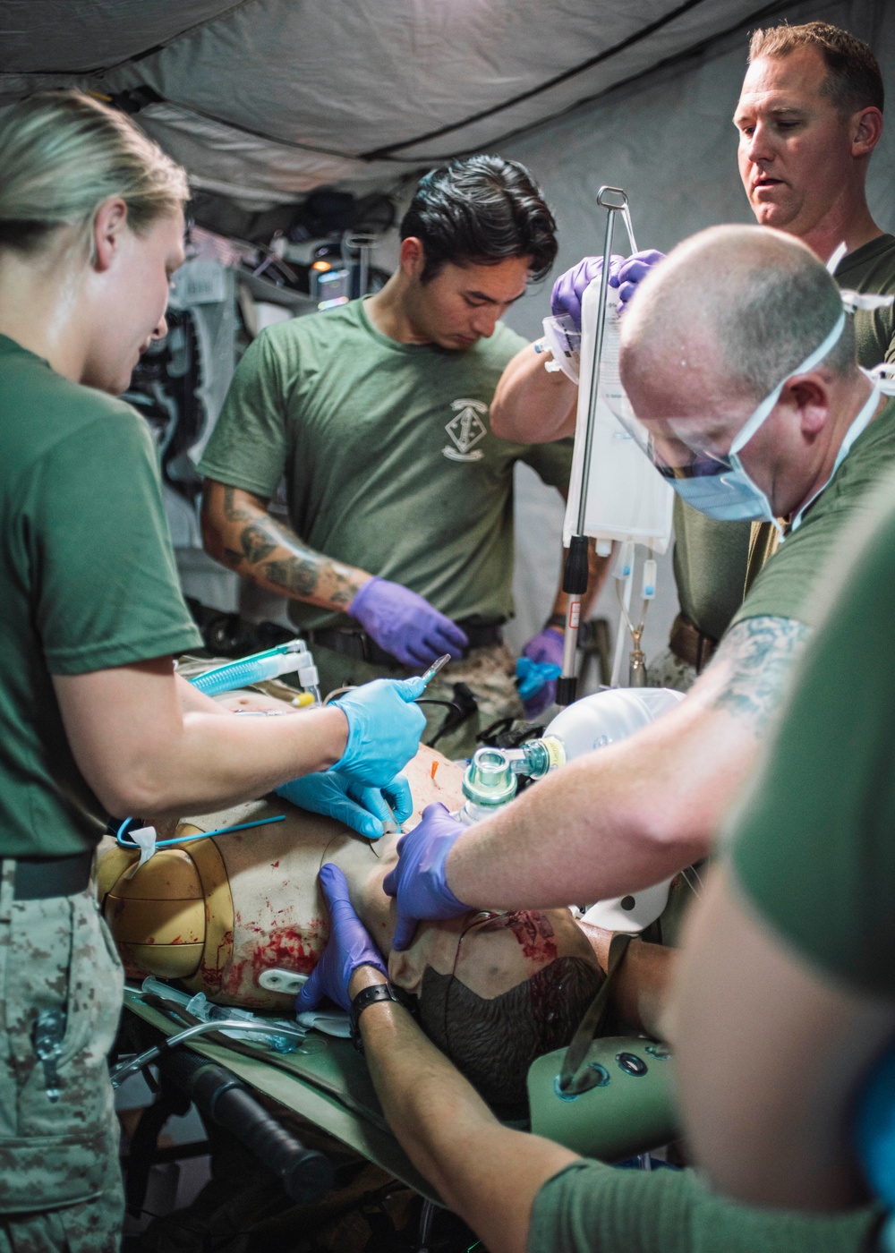
[{"label": "blonde woman in green t-shirt and camouflage trousers, light blue gloves", "polygon": [[0,1253],[118,1245],[105,1054],[122,974],[88,890],[105,814],[201,812],[328,771],[385,787],[417,680],[241,718],[172,654],[201,644],[152,440],[113,397],[164,335],[184,172],[85,95],[0,122]]}]

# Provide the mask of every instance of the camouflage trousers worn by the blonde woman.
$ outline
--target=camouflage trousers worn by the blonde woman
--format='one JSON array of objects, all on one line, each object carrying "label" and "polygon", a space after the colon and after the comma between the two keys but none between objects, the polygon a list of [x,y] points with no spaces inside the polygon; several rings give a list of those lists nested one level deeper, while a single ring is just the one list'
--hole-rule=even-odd
[{"label": "camouflage trousers worn by the blonde woman", "polygon": [[[0,1253],[114,1253],[124,1212],[107,1054],[123,974],[90,890],[16,901],[0,878]],[[31,1039],[66,1015],[59,1099]]]}]

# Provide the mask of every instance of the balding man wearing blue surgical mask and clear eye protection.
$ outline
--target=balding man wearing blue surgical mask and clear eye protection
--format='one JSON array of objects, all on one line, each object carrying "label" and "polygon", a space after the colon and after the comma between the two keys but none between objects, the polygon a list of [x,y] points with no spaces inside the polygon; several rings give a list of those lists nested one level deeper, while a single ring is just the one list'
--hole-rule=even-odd
[{"label": "balding man wearing blue surgical mask and clear eye protection", "polygon": [[782,519],[786,538],[671,713],[471,828],[429,807],[385,883],[396,947],[420,917],[620,896],[711,851],[844,533],[879,507],[874,487],[895,464],[895,401],[857,366],[842,309],[811,249],[767,228],[702,232],[641,284],[622,328],[631,407],[619,416],[694,507]]}]

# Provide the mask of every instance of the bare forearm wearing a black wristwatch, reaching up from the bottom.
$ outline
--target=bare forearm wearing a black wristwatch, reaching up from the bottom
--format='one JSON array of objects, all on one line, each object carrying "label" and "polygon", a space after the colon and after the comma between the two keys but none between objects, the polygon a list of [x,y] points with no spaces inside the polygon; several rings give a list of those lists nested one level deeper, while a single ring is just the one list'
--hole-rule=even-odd
[{"label": "bare forearm wearing a black wristwatch, reaching up from the bottom", "polygon": [[[381,981],[361,966],[350,995]],[[360,1030],[382,1111],[416,1169],[491,1253],[525,1253],[538,1189],[577,1154],[501,1126],[406,1010],[371,1005]]]}]

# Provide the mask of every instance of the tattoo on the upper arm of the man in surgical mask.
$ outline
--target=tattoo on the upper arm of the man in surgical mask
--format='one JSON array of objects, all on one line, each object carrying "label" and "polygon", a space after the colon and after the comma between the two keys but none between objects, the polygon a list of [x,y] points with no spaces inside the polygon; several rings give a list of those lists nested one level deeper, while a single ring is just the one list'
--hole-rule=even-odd
[{"label": "tattoo on the upper arm of the man in surgical mask", "polygon": [[761,734],[773,718],[810,628],[792,618],[746,618],[723,638],[711,670],[726,667],[712,702],[735,718],[748,718]]}]

